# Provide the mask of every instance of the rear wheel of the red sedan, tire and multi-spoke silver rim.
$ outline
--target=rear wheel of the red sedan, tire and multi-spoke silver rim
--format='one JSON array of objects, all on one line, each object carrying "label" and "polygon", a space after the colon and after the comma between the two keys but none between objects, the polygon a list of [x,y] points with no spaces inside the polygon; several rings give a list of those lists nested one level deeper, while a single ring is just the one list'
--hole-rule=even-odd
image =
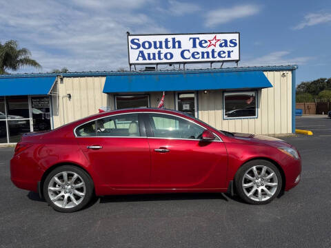
[{"label": "rear wheel of the red sedan, tire and multi-spoke silver rim", "polygon": [[43,183],[46,201],[53,209],[63,213],[82,209],[93,194],[94,184],[88,173],[72,165],[53,169]]}]

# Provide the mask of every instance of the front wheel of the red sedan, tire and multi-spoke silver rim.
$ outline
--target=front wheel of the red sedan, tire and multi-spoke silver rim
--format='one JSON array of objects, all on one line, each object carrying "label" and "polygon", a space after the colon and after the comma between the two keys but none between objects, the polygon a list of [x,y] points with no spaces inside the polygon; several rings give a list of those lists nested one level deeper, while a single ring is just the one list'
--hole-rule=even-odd
[{"label": "front wheel of the red sedan, tire and multi-spoke silver rim", "polygon": [[277,166],[265,160],[245,163],[234,177],[240,198],[253,205],[268,204],[274,200],[281,192],[282,183]]}]

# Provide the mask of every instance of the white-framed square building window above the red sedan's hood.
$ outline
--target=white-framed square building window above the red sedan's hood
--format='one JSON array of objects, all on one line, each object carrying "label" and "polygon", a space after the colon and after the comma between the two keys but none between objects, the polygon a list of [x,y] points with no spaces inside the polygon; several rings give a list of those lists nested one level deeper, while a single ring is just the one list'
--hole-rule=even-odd
[{"label": "white-framed square building window above the red sedan's hood", "polygon": [[224,118],[257,117],[257,92],[224,92]]}]

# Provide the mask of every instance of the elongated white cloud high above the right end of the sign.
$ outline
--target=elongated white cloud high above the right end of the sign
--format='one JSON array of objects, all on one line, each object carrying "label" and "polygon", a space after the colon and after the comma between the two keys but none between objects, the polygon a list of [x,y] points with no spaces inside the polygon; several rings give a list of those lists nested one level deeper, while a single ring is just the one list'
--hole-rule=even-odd
[{"label": "elongated white cloud high above the right end of the sign", "polygon": [[206,14],[205,25],[207,27],[213,27],[215,25],[227,23],[235,19],[250,17],[259,13],[260,10],[260,6],[252,4],[234,6],[232,8],[219,8]]}]

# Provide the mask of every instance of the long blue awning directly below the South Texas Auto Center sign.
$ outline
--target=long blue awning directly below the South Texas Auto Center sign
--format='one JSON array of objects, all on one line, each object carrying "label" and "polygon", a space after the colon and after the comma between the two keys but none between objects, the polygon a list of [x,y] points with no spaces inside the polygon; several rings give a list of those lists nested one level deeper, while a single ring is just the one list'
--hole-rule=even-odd
[{"label": "long blue awning directly below the South Texas Auto Center sign", "polygon": [[180,90],[252,89],[272,87],[262,71],[252,72],[153,72],[107,76],[103,93]]}]

